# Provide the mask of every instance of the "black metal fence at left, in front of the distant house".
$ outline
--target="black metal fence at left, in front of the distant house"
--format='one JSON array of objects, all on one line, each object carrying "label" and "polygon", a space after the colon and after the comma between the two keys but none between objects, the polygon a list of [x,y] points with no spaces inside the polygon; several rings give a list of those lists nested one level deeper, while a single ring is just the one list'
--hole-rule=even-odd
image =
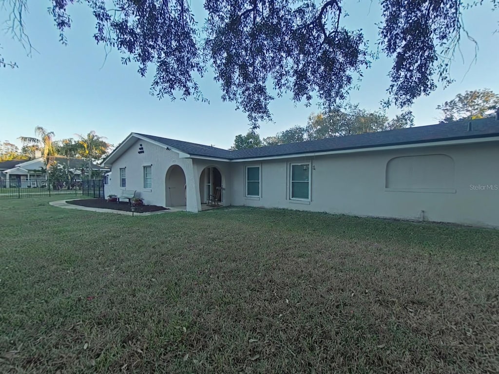
[{"label": "black metal fence at left, in front of the distant house", "polygon": [[104,198],[104,181],[0,181],[0,198],[25,198],[43,196],[87,196]]}]

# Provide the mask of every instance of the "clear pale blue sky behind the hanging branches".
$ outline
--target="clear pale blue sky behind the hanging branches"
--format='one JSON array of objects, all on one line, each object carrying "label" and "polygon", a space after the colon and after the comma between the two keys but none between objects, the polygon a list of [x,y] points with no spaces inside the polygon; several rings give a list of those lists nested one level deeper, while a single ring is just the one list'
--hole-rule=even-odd
[{"label": "clear pale blue sky behind the hanging branches", "polygon": [[[200,14],[201,6],[193,2],[198,6],[195,12]],[[88,7],[78,4],[70,7],[73,25],[67,32],[69,43],[64,46],[59,43],[58,31],[46,11],[49,1],[29,4],[30,13],[25,17],[27,33],[39,53],[26,57],[18,42],[8,34],[0,34],[3,57],[19,65],[17,69],[0,69],[0,141],[19,144],[17,137],[32,136],[34,127],[42,126],[54,131],[57,139],[74,138],[75,133],[95,130],[116,144],[130,132],[142,132],[229,148],[237,134],[247,132],[246,115],[236,111],[233,103],[222,102],[213,75],[207,74],[200,80],[210,104],[192,99],[159,101],[149,94],[151,76],[142,78],[133,65],[123,66],[116,50],[104,63],[104,48],[92,38],[94,23]],[[359,1],[346,10],[350,16],[342,22],[362,28],[374,45],[375,22],[380,19],[377,3]],[[6,16],[0,11],[0,20]],[[451,70],[456,83],[415,102],[412,110],[417,126],[438,122],[440,114],[435,107],[465,90],[490,88],[499,93],[499,35],[493,34],[498,13],[486,4],[467,11],[464,21],[479,43],[478,59],[473,62],[475,46],[464,38],[461,47],[464,61],[458,56]],[[387,97],[390,66],[387,58],[375,61],[366,71],[360,89],[352,91],[351,102],[369,110],[378,109],[380,101]],[[304,125],[308,115],[317,111],[316,107],[294,105],[289,98],[275,100],[270,108],[274,123],[261,124],[262,137]],[[390,116],[396,113],[395,108],[388,111]]]}]

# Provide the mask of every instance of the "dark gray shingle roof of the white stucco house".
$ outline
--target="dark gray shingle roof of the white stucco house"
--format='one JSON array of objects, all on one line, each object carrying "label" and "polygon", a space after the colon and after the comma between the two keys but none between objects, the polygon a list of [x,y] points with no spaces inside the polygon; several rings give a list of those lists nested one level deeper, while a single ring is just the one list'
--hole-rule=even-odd
[{"label": "dark gray shingle roof of the white stucco house", "polygon": [[[468,131],[470,122],[472,124],[472,131]],[[152,135],[137,135],[176,148],[193,156],[238,160],[499,136],[499,121],[491,117],[473,121],[442,123],[237,151],[228,151],[221,148]]]}]

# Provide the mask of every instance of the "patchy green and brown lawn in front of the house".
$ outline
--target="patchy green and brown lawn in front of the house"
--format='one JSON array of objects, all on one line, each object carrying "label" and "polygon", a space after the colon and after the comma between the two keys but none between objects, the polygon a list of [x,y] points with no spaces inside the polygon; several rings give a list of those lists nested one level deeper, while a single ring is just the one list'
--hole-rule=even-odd
[{"label": "patchy green and brown lawn in front of the house", "polygon": [[1,373],[499,368],[498,230],[49,200],[0,201]]}]

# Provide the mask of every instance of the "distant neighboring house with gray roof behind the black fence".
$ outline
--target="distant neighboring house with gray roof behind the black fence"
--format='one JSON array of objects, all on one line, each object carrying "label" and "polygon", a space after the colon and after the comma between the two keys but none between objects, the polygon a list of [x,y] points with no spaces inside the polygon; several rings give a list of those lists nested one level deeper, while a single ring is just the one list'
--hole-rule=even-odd
[{"label": "distant neighboring house with gray roof behind the black fence", "polygon": [[[73,176],[73,180],[80,180],[82,173],[88,173],[88,161],[84,159],[67,159],[65,157],[51,157],[53,165],[64,165]],[[109,169],[92,163],[92,171],[105,173]],[[33,160],[11,160],[0,162],[0,187],[45,187],[47,175],[45,160],[37,157]]]}]

